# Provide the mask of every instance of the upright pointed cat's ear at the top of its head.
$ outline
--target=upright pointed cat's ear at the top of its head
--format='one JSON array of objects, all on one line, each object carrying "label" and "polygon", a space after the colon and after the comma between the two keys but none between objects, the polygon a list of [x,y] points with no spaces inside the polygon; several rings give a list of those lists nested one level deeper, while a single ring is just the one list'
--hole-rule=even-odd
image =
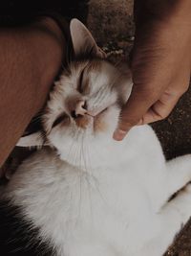
[{"label": "upright pointed cat's ear at the top of its head", "polygon": [[93,35],[78,19],[72,19],[70,31],[75,57],[106,58],[106,54],[96,45]]}]

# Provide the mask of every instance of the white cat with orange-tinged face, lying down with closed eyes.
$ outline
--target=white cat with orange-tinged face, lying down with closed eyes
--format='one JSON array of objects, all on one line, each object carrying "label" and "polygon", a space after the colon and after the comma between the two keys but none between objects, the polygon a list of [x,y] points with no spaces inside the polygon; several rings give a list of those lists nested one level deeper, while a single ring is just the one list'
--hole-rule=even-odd
[{"label": "white cat with orange-tinged face, lying down with closed eyes", "polygon": [[[51,148],[12,176],[4,211],[9,205],[28,235],[37,230],[27,243],[49,244],[46,255],[161,256],[191,216],[191,156],[166,162],[148,126],[132,128],[122,142],[112,138],[132,81],[101,59],[83,24],[74,19],[70,29],[76,59],[55,82],[43,116]],[[36,248],[34,255],[47,253]]]}]

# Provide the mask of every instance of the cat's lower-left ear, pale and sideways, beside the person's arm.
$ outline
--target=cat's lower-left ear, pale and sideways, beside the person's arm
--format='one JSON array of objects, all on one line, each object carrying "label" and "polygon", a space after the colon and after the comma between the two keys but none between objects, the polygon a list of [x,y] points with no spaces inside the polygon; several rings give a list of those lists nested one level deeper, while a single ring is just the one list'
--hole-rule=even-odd
[{"label": "cat's lower-left ear, pale and sideways, beside the person's arm", "polygon": [[44,145],[45,143],[40,131],[21,137],[16,144],[18,147],[42,147]]}]

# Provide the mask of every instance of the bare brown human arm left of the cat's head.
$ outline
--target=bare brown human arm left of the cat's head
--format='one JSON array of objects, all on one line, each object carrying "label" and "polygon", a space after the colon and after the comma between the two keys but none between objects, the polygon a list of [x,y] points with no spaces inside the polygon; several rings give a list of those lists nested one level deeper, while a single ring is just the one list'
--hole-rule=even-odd
[{"label": "bare brown human arm left of the cat's head", "polygon": [[[45,104],[66,41],[52,18],[0,31],[0,166]],[[1,174],[0,174],[1,175]]]}]

